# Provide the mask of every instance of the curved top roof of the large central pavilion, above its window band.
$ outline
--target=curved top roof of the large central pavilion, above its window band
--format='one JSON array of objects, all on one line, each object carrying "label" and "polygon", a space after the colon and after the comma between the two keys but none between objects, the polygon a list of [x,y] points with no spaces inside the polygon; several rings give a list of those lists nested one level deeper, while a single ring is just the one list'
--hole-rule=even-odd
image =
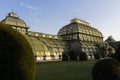
[{"label": "curved top roof of the large central pavilion, above its window band", "polygon": [[77,18],[71,20],[70,24],[62,27],[59,30],[58,35],[66,35],[66,34],[74,34],[74,33],[82,33],[82,34],[103,37],[102,33],[99,30],[91,27],[88,22]]}]

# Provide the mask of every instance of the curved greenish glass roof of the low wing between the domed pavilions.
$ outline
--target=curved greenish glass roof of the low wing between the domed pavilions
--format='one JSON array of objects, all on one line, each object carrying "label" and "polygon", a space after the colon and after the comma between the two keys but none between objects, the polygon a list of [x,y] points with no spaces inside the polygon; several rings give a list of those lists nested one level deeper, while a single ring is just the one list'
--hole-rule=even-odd
[{"label": "curved greenish glass roof of the low wing between the domed pavilions", "polygon": [[65,46],[65,43],[59,39],[36,37],[31,35],[24,35],[24,37],[28,40],[35,55],[38,55],[37,52],[39,52],[40,56],[47,53],[52,54],[54,52],[63,52],[63,48]]}]

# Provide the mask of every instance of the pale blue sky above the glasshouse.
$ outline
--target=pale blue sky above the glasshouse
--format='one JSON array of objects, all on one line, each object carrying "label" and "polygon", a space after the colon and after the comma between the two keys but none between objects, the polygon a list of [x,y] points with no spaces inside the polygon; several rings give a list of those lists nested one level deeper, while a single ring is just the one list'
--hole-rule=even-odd
[{"label": "pale blue sky above the glasshouse", "polygon": [[9,12],[23,19],[30,31],[57,34],[77,17],[104,35],[120,40],[120,0],[0,0],[0,20]]}]

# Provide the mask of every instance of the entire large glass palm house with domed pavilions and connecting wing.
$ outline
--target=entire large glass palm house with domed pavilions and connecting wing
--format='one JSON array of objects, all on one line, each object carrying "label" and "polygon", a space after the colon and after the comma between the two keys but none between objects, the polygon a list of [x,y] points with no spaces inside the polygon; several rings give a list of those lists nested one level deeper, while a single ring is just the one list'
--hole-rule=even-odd
[{"label": "entire large glass palm house with domed pavilions and connecting wing", "polygon": [[1,21],[18,30],[30,43],[37,61],[93,60],[103,57],[103,35],[84,20],[72,19],[57,35],[29,31],[16,13]]}]

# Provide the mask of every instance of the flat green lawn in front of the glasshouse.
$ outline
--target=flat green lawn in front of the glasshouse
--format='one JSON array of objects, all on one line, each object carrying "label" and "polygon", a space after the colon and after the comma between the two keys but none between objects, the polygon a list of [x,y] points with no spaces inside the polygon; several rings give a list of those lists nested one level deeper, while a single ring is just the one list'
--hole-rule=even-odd
[{"label": "flat green lawn in front of the glasshouse", "polygon": [[95,62],[39,62],[36,63],[36,80],[92,80],[91,69]]}]

